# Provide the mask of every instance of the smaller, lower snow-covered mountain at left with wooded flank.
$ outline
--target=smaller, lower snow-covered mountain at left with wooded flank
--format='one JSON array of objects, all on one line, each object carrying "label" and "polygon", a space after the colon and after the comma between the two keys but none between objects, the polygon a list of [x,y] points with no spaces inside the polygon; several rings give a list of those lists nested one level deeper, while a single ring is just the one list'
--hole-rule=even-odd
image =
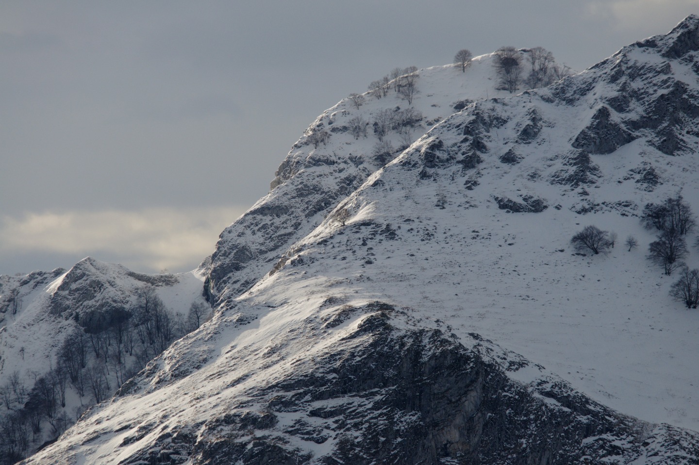
[{"label": "smaller, lower snow-covered mountain at left with wooded flank", "polygon": [[190,309],[210,313],[202,284],[194,272],[145,275],[91,257],[0,276],[0,464],[55,439],[194,329]]}]

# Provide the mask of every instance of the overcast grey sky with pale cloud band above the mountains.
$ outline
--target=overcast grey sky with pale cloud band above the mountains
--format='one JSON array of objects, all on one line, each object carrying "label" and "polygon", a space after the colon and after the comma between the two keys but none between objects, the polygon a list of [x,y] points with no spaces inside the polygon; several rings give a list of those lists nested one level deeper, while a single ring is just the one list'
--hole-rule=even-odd
[{"label": "overcast grey sky with pale cloud band above the mountains", "polygon": [[0,4],[0,273],[188,271],[315,117],[396,66],[542,46],[582,71],[696,0]]}]

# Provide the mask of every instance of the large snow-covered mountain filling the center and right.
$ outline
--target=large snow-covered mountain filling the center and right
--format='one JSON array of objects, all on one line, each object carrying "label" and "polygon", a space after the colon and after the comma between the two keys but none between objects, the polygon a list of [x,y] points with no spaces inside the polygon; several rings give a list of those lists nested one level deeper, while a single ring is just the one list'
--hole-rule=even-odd
[{"label": "large snow-covered mountain filling the center and right", "polygon": [[517,95],[493,59],[324,112],[199,269],[212,320],[27,463],[698,464],[699,314],[639,216],[699,209],[699,17]]}]

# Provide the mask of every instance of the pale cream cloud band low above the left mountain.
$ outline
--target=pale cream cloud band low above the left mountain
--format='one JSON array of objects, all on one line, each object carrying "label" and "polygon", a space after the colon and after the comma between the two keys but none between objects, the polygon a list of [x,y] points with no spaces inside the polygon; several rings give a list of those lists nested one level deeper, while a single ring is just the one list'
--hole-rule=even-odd
[{"label": "pale cream cloud band low above the left mountain", "polygon": [[104,259],[103,254],[106,261],[137,271],[184,271],[210,255],[220,232],[245,210],[146,208],[5,216],[0,220],[0,255],[45,252]]}]

